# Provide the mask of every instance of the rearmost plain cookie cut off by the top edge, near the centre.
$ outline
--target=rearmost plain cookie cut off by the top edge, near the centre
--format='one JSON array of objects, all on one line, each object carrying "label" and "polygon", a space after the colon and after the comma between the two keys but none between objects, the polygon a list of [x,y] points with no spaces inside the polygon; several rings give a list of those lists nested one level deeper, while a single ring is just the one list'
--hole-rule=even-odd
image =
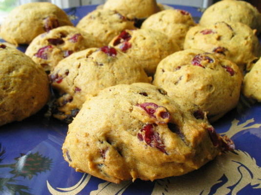
[{"label": "rearmost plain cookie cut off by the top edge, near the centre", "polygon": [[156,0],[107,0],[103,9],[115,10],[129,19],[148,18],[160,11]]}]

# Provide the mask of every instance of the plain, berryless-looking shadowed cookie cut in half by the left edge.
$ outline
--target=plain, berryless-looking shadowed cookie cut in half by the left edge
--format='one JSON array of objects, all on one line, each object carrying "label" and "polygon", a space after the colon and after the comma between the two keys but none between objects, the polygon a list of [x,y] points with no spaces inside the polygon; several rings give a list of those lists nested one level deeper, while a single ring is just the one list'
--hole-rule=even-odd
[{"label": "plain, berryless-looking shadowed cookie cut in half by the left edge", "polygon": [[39,111],[49,98],[43,68],[17,49],[0,44],[0,126]]}]

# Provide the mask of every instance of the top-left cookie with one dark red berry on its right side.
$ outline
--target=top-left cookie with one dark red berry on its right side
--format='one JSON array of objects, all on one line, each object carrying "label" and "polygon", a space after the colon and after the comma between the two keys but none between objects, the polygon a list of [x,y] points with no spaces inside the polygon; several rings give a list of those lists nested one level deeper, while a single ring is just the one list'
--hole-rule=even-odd
[{"label": "top-left cookie with one dark red berry on its right side", "polygon": [[10,43],[29,44],[38,35],[58,26],[73,25],[66,13],[49,2],[22,4],[13,9],[0,28],[0,37]]}]

